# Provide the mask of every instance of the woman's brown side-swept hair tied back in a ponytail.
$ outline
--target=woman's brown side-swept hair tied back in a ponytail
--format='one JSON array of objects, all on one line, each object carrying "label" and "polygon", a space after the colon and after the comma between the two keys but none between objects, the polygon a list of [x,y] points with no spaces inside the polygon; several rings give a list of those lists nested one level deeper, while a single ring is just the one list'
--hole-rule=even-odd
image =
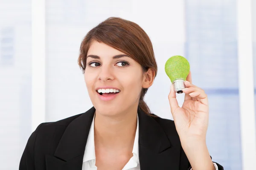
[{"label": "woman's brown side-swept hair tied back in a ponytail", "polygon": [[[155,75],[157,74],[157,62],[154,57],[151,40],[136,23],[119,17],[110,17],[91,29],[80,46],[78,63],[83,73],[86,67],[87,52],[93,40],[103,42],[129,55],[142,66],[144,72],[148,71],[148,68],[152,68],[155,71]],[[143,100],[147,91],[147,88],[143,88],[141,91],[139,108],[150,114],[151,111]]]}]

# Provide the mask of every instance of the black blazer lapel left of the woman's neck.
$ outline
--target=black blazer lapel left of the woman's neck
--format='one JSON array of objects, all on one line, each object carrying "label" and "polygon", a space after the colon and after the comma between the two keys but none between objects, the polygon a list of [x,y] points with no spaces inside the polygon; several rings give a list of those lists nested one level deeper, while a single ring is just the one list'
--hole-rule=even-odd
[{"label": "black blazer lapel left of the woman's neck", "polygon": [[66,128],[54,156],[46,156],[47,170],[81,170],[95,108],[74,119]]}]

